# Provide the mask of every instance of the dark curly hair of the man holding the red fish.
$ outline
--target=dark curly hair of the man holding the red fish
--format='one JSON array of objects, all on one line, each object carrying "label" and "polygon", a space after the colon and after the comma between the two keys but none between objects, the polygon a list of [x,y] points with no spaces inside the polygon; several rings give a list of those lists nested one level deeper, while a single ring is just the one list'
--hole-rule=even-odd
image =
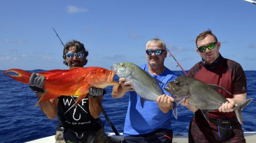
[{"label": "dark curly hair of the man holding the red fish", "polygon": [[[86,50],[86,48],[84,48],[84,45],[79,42],[79,41],[76,41],[76,40],[73,40],[73,41],[70,41],[70,42],[67,42],[65,44],[65,47],[63,49],[63,64],[67,65],[68,66],[68,63],[66,62],[66,57],[67,57],[67,52],[69,50],[70,47],[75,47],[75,50],[76,52],[78,51],[82,51],[84,53],[84,56],[85,58],[89,55],[89,52]],[[88,62],[88,60],[86,59],[86,61],[84,62],[84,65],[86,65]]]}]

